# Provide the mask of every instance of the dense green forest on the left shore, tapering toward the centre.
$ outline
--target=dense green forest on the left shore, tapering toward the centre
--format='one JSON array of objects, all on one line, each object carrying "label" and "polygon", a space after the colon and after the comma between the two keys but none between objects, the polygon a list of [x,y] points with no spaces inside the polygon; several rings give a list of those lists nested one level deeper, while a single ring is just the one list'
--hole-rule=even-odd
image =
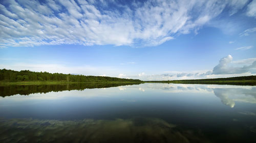
[{"label": "dense green forest on the left shore, tapering toward the centre", "polygon": [[142,82],[139,79],[126,79],[108,76],[85,76],[49,72],[32,72],[29,70],[14,71],[0,69],[0,81],[64,81],[64,82],[108,82],[108,81],[126,81]]}]

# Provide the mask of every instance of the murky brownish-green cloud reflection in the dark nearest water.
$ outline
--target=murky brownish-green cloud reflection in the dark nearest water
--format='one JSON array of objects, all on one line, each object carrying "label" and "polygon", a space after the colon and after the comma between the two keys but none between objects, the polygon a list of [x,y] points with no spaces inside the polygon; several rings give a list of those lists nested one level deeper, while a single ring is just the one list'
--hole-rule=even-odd
[{"label": "murky brownish-green cloud reflection in the dark nearest water", "polygon": [[4,142],[209,142],[196,130],[183,130],[155,118],[116,120],[1,119]]}]

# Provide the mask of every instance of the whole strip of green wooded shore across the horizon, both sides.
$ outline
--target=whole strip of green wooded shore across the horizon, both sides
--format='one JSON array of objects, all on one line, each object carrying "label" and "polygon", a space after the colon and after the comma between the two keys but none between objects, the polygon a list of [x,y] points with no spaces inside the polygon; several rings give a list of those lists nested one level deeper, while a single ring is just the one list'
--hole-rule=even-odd
[{"label": "whole strip of green wooded shore across the horizon, both sides", "polygon": [[29,84],[66,84],[66,83],[185,83],[185,84],[232,84],[256,85],[256,76],[240,76],[228,78],[188,79],[168,81],[141,81],[139,79],[126,79],[107,76],[85,76],[62,73],[32,72],[29,70],[14,71],[0,69],[0,85],[29,85]]}]

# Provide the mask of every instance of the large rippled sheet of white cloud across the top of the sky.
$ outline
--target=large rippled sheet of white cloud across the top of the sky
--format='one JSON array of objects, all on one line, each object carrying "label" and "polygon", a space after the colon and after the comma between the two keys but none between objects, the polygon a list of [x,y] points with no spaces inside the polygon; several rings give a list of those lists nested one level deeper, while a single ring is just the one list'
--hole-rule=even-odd
[{"label": "large rippled sheet of white cloud across the top of the sky", "polygon": [[[228,8],[232,15],[246,2],[1,1],[0,47],[59,44],[154,46],[173,39],[175,35],[198,31],[224,8]],[[248,7],[251,16],[251,6]]]}]

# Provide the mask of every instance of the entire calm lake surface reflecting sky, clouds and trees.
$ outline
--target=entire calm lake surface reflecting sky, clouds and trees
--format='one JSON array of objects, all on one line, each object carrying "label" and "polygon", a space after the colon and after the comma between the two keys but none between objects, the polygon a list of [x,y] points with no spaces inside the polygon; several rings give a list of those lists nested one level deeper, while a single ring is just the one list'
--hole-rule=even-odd
[{"label": "entire calm lake surface reflecting sky, clouds and trees", "polygon": [[255,86],[44,86],[0,87],[0,142],[256,142]]}]

